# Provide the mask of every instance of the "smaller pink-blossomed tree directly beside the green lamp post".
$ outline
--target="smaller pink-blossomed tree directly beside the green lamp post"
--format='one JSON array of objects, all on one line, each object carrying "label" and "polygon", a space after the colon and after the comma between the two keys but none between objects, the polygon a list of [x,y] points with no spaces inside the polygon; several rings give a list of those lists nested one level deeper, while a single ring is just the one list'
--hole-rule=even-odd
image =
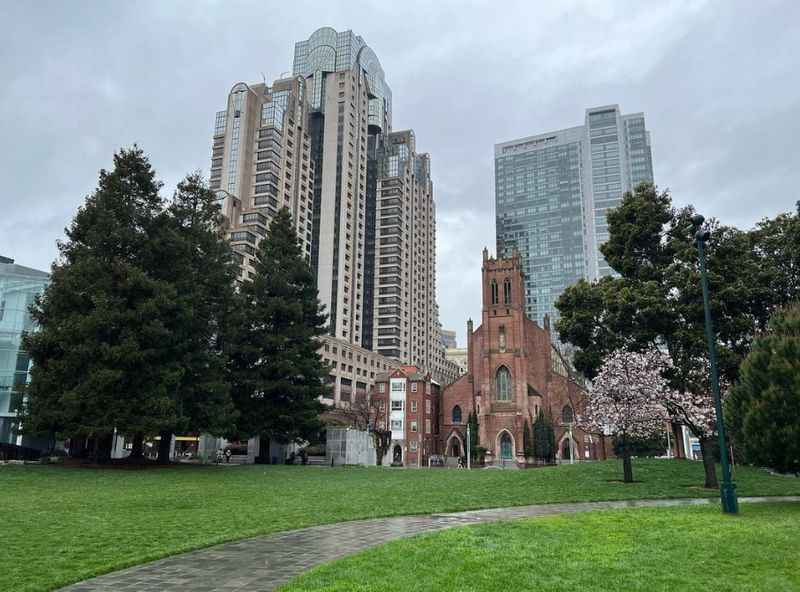
[{"label": "smaller pink-blossomed tree directly beside the green lamp post", "polygon": [[[680,368],[669,365],[668,370],[680,388],[665,391],[662,404],[673,421],[689,428],[700,441],[705,469],[705,487],[719,487],[712,443],[717,437],[717,413],[714,407],[714,393],[711,390],[711,366],[705,356],[694,357]],[[720,394],[723,400],[730,383],[720,377]]]}]

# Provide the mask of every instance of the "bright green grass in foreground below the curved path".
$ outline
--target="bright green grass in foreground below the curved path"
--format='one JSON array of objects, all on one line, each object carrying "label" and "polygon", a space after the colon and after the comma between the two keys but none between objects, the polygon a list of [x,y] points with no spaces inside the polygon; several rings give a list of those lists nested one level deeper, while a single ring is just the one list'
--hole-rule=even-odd
[{"label": "bright green grass in foreground below the curved path", "polygon": [[800,590],[800,504],[648,508],[467,526],[318,567],[281,592]]}]

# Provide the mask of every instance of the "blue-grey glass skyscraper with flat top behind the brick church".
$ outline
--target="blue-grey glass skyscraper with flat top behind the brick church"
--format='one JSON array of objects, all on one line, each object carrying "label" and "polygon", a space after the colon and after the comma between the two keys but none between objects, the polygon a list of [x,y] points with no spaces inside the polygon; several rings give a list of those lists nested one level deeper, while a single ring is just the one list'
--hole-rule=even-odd
[{"label": "blue-grey glass skyscraper with flat top behind the brick church", "polygon": [[522,258],[526,313],[540,324],[580,278],[612,270],[599,247],[608,240],[606,212],[625,191],[653,181],[644,114],[619,106],[586,110],[583,126],[495,145],[498,256]]}]

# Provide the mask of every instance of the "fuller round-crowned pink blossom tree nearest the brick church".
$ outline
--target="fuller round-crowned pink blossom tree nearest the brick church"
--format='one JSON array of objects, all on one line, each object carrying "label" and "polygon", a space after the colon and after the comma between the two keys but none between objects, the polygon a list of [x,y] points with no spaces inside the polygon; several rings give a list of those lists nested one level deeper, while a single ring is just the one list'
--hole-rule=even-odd
[{"label": "fuller round-crowned pink blossom tree nearest the brick church", "polygon": [[613,436],[622,448],[625,483],[633,482],[630,443],[664,429],[669,419],[662,397],[669,390],[662,375],[665,356],[617,350],[606,358],[594,379],[578,424],[589,432]]}]

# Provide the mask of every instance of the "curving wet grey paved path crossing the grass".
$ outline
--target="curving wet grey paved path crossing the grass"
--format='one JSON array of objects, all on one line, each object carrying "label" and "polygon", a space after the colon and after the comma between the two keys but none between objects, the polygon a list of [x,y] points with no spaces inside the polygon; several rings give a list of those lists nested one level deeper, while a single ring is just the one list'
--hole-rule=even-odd
[{"label": "curving wet grey paved path crossing the grass", "polygon": [[[791,501],[800,496],[746,497],[742,503]],[[590,510],[717,504],[712,499],[635,500],[541,504],[472,510],[452,514],[402,516],[340,522],[224,543],[174,555],[74,584],[70,592],[261,592],[275,590],[294,576],[321,563],[388,541],[482,522],[547,516]]]}]

